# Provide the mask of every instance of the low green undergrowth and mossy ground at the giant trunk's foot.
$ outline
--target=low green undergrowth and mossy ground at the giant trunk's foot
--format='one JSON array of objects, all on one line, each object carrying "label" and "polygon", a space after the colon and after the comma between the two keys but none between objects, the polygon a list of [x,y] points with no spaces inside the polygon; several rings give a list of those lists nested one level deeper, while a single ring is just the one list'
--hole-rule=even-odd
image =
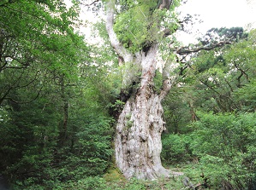
[{"label": "low green undergrowth and mossy ground at the giant trunk's foot", "polygon": [[[185,189],[205,189],[205,179],[199,170],[198,164],[181,164],[166,167],[174,173],[183,174],[173,176],[168,179],[159,178],[155,181],[139,181],[136,179],[126,180],[116,168],[110,168],[104,175],[104,180],[112,189],[146,189],[146,190],[185,190]],[[208,188],[209,189],[209,188]]]}]

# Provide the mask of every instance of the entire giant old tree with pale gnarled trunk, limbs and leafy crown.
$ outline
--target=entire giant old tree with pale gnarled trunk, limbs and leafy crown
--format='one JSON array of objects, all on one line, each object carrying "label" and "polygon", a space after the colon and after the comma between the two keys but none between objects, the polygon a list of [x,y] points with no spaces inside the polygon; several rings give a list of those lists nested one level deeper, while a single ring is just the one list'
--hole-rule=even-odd
[{"label": "entire giant old tree with pale gnarled trunk, limbs and leafy crown", "polygon": [[[95,3],[97,3],[96,1]],[[122,69],[122,87],[116,102],[123,107],[116,115],[116,164],[127,178],[155,179],[170,176],[160,160],[161,133],[165,130],[161,101],[176,78],[176,55],[221,47],[181,47],[173,34],[188,20],[178,20],[180,1],[104,2],[106,30]],[[163,61],[157,63],[161,52]],[[162,83],[156,88],[156,72],[162,68]],[[118,104],[121,106],[122,104]]]}]

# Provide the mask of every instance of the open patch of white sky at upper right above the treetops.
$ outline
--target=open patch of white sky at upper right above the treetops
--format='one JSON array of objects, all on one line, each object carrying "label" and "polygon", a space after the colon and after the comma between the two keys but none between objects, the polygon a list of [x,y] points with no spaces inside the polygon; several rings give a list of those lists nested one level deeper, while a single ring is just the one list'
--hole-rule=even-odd
[{"label": "open patch of white sky at upper right above the treetops", "polygon": [[[182,34],[179,37],[187,43],[193,42],[195,32],[204,34],[212,27],[256,28],[256,0],[188,0],[179,11],[182,14],[199,14],[199,20],[203,20],[193,26],[193,35]],[[249,25],[251,26],[248,27]]]}]

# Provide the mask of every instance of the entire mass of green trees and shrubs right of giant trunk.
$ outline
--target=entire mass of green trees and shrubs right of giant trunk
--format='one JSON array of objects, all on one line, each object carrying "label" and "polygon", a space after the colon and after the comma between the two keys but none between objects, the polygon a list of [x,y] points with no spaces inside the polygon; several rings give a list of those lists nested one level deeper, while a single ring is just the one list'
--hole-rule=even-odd
[{"label": "entire mass of green trees and shrubs right of giant trunk", "polygon": [[193,184],[206,180],[211,189],[253,189],[255,31],[223,37],[228,35],[236,43],[193,56],[181,87],[164,101],[167,129],[173,133],[179,126],[182,135],[164,135],[161,156],[167,164],[184,158],[183,171]]}]

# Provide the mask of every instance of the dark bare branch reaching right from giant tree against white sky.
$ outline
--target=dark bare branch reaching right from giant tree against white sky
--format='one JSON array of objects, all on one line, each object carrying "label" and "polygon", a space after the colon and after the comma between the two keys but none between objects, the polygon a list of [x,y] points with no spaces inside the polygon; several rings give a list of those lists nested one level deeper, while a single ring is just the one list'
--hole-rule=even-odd
[{"label": "dark bare branch reaching right from giant tree against white sky", "polygon": [[221,41],[219,43],[215,43],[215,44],[208,45],[208,46],[202,46],[202,47],[195,48],[195,49],[189,49],[189,47],[182,47],[182,48],[176,49],[176,53],[178,55],[188,55],[188,54],[199,52],[200,50],[211,50],[211,49],[215,49],[218,47],[222,47],[225,44],[232,44],[232,43],[230,41]]}]

